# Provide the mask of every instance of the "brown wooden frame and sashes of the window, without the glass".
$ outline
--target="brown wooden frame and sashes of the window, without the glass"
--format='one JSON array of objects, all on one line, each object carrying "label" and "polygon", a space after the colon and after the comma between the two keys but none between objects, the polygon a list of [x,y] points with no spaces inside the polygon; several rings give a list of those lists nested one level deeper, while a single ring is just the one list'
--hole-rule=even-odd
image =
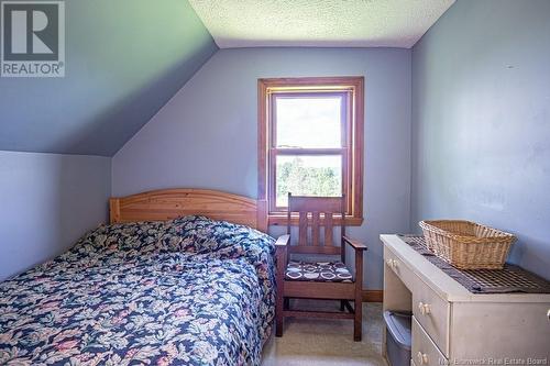
[{"label": "brown wooden frame and sashes of the window, without the glass", "polygon": [[[258,200],[266,200],[268,204],[267,221],[270,225],[283,225],[287,223],[286,212],[277,211],[275,208],[275,163],[277,154],[276,145],[272,146],[274,125],[273,113],[270,106],[274,96],[286,96],[293,92],[301,95],[323,92],[345,95],[348,103],[348,115],[344,121],[344,135],[346,142],[341,148],[324,149],[332,155],[342,155],[342,186],[346,195],[348,210],[345,215],[346,225],[361,225],[363,223],[363,160],[364,160],[364,77],[304,77],[304,78],[267,78],[257,80],[257,192]],[[322,154],[321,148],[285,148],[284,154],[315,155]],[[278,152],[280,154],[280,151]],[[284,155],[283,154],[283,155]],[[293,217],[295,224],[298,218]],[[339,220],[339,219],[337,219]]]}]

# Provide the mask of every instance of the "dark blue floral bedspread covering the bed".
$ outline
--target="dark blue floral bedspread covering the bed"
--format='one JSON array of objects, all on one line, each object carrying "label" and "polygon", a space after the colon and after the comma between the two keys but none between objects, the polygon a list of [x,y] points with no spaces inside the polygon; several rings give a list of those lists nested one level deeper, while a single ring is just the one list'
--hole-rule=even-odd
[{"label": "dark blue floral bedspread covering the bed", "polygon": [[186,217],[102,225],[0,284],[0,365],[258,365],[274,240]]}]

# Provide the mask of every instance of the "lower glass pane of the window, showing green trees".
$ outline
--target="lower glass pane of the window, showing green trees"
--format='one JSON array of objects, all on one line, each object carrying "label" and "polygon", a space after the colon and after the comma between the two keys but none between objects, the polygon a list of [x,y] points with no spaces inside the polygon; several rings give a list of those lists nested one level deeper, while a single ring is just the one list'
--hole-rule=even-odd
[{"label": "lower glass pane of the window, showing green trees", "polygon": [[276,164],[277,207],[287,207],[288,192],[321,197],[342,195],[340,155],[278,155]]}]

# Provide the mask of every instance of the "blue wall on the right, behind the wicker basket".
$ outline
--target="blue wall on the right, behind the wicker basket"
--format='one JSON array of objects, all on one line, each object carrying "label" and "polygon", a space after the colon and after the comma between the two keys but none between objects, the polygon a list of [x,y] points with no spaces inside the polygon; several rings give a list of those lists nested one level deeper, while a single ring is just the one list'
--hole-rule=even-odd
[{"label": "blue wall on the right, behind the wicker basket", "polygon": [[415,45],[411,182],[413,228],[510,231],[550,278],[550,1],[459,0]]}]

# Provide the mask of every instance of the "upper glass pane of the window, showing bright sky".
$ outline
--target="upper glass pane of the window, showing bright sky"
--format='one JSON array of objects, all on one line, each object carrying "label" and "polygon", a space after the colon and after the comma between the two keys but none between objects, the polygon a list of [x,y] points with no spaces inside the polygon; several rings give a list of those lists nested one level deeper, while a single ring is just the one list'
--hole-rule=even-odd
[{"label": "upper glass pane of the window, showing bright sky", "polygon": [[342,98],[277,97],[276,147],[342,147]]}]

